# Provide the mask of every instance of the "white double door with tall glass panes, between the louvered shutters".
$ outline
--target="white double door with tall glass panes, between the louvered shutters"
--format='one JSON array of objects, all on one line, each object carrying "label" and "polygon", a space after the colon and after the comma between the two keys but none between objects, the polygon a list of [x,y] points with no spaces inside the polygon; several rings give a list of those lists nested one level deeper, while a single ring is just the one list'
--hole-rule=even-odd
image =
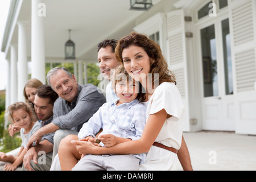
[{"label": "white double door with tall glass panes, between the louvered shutters", "polygon": [[203,130],[234,131],[233,73],[229,19],[209,18],[197,26]]}]

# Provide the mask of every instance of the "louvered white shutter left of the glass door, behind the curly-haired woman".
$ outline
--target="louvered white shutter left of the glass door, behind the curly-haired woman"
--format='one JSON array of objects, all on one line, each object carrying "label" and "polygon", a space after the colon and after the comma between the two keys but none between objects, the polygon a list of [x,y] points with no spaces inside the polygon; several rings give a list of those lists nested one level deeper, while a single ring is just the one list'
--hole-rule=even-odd
[{"label": "louvered white shutter left of the glass door, behind the curly-haired woman", "polygon": [[184,130],[189,131],[187,55],[184,23],[183,10],[175,10],[167,14],[168,65],[170,70],[176,75],[177,88],[183,98],[186,123],[188,124],[184,125]]}]

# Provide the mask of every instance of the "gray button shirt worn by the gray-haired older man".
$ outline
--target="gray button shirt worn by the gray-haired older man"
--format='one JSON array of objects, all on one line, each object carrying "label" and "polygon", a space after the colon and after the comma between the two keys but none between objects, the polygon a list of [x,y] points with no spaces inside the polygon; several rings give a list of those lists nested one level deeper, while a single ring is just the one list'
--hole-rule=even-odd
[{"label": "gray button shirt worn by the gray-haired older man", "polygon": [[57,98],[53,107],[52,123],[60,129],[79,131],[105,102],[104,94],[96,86],[79,84],[79,92],[72,102]]}]

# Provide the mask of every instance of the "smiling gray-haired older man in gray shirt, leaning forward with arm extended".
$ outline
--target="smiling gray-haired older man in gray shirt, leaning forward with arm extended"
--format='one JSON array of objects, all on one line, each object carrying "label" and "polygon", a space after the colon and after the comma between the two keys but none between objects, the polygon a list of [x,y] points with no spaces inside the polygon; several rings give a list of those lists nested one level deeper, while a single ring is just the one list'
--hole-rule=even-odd
[{"label": "smiling gray-haired older man in gray shirt, leaning forward with arm extended", "polygon": [[47,74],[47,81],[59,95],[53,107],[53,121],[36,131],[28,140],[27,147],[34,141],[40,141],[43,135],[55,132],[53,160],[61,139],[70,134],[77,135],[106,98],[96,86],[78,84],[75,76],[65,68],[52,68]]}]

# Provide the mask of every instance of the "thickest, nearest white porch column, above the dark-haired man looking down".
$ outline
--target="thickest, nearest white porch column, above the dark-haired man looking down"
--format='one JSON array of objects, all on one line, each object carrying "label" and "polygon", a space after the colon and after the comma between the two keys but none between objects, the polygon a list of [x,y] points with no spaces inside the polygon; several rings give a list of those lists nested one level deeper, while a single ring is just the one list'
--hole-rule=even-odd
[{"label": "thickest, nearest white porch column, above the dark-haired man looking down", "polygon": [[31,1],[31,78],[46,83],[46,59],[44,55],[44,15],[43,0]]}]

